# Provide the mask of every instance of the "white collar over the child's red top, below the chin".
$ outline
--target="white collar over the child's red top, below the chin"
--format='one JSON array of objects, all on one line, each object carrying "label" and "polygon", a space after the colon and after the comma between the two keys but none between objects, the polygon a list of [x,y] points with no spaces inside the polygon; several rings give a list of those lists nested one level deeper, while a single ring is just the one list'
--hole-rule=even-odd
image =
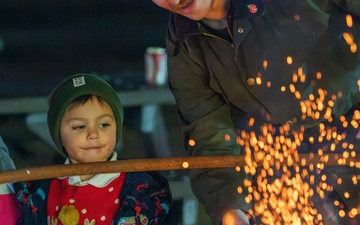
[{"label": "white collar over the child's red top, below the chin", "polygon": [[[109,161],[117,161],[117,153],[113,152]],[[69,158],[65,160],[64,164],[70,164]],[[95,187],[102,188],[106,187],[111,181],[119,177],[120,173],[106,173],[106,174],[95,174],[88,180],[81,181],[79,175],[68,176],[68,177],[59,177],[59,179],[68,179],[69,185],[73,186],[85,186],[91,184]]]}]

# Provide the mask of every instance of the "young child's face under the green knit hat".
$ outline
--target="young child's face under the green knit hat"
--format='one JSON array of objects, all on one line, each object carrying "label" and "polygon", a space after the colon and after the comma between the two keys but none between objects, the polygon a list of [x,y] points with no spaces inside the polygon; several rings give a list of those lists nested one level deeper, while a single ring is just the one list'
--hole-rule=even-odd
[{"label": "young child's face under the green knit hat", "polygon": [[65,111],[60,135],[72,163],[107,161],[116,143],[113,111],[93,96],[84,105]]}]

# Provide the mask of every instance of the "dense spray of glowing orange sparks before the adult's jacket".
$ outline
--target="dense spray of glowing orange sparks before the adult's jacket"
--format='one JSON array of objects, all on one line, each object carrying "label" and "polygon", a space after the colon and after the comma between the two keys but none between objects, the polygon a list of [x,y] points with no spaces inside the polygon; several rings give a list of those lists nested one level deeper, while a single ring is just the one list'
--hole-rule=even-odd
[{"label": "dense spray of glowing orange sparks before the adult's jacket", "polygon": [[[343,33],[346,42],[351,45],[354,42],[350,33]],[[293,63],[291,56],[286,59],[290,65]],[[268,62],[263,61],[263,67],[266,69]],[[265,76],[264,76],[265,77]],[[316,72],[315,80],[311,80],[313,87],[316,87],[318,80],[323,78],[321,72]],[[327,192],[331,192],[334,187],[328,184],[330,178],[323,175],[321,171],[329,162],[329,153],[342,148],[342,154],[338,154],[336,162],[338,165],[350,165],[354,168],[360,168],[360,162],[353,158],[357,156],[354,150],[354,145],[345,142],[345,134],[337,129],[328,127],[326,122],[333,122],[333,107],[335,102],[343,96],[342,92],[336,94],[329,94],[325,89],[318,88],[313,93],[308,94],[308,99],[303,99],[306,96],[301,96],[297,88],[301,87],[301,83],[305,83],[306,74],[302,67],[292,73],[290,77],[292,83],[280,86],[281,92],[292,93],[298,99],[301,119],[313,119],[318,122],[318,134],[314,136],[307,136],[305,140],[302,126],[299,130],[293,131],[289,124],[275,127],[271,124],[266,124],[260,127],[260,133],[239,131],[237,143],[241,145],[245,152],[245,166],[244,172],[256,177],[254,181],[246,180],[243,186],[239,186],[238,193],[244,193],[243,188],[247,189],[248,195],[245,198],[246,202],[254,201],[253,213],[254,215],[261,215],[261,224],[324,224],[322,222],[323,215],[321,215],[311,198],[314,195],[320,198],[326,198]],[[300,83],[301,82],[301,83]],[[262,84],[262,76],[247,79],[248,85]],[[357,81],[360,90],[360,80]],[[269,81],[266,83],[267,87],[271,86]],[[320,119],[325,119],[324,123]],[[299,118],[293,118],[291,121],[298,121]],[[353,128],[360,127],[360,111],[355,111],[351,121],[345,116],[339,117],[339,122],[343,128],[352,126]],[[248,120],[248,126],[255,126],[255,119]],[[230,138],[230,137],[229,137]],[[227,139],[227,135],[225,135]],[[315,153],[310,153],[311,160],[315,154],[319,157],[316,163],[307,162],[306,159],[300,158],[297,148],[306,141],[307,144],[315,144],[322,142],[329,142],[328,149],[318,149]],[[308,165],[308,167],[306,167]],[[235,168],[240,171],[240,167]],[[278,175],[281,174],[281,175]],[[319,180],[320,178],[320,180]],[[354,185],[360,181],[360,175],[354,175],[351,181]],[[348,184],[349,181],[342,180],[336,177],[338,185]],[[351,198],[350,192],[344,193],[344,198]],[[346,215],[355,217],[359,215],[357,208],[345,212],[343,204],[334,202],[334,205],[339,207],[339,216]]]}]

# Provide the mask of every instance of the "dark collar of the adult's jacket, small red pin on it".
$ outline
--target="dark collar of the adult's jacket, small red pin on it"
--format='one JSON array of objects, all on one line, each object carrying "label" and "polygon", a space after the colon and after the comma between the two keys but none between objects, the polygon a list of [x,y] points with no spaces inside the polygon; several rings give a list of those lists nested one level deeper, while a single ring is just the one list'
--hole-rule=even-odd
[{"label": "dark collar of the adult's jacket, small red pin on it", "polygon": [[[230,0],[233,15],[236,19],[250,19],[264,14],[263,0]],[[169,22],[169,34],[173,41],[183,41],[190,35],[200,33],[198,21],[172,13]]]}]

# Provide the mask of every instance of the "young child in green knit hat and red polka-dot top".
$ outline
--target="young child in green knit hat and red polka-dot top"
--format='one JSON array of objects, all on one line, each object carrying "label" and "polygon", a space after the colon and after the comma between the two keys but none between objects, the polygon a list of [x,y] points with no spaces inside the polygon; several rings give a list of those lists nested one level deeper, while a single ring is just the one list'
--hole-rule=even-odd
[{"label": "young child in green knit hat and red polka-dot top", "polygon": [[[48,127],[65,164],[115,161],[123,108],[99,77],[65,79],[49,96]],[[58,177],[14,184],[20,224],[155,225],[168,213],[168,182],[154,172]]]}]

